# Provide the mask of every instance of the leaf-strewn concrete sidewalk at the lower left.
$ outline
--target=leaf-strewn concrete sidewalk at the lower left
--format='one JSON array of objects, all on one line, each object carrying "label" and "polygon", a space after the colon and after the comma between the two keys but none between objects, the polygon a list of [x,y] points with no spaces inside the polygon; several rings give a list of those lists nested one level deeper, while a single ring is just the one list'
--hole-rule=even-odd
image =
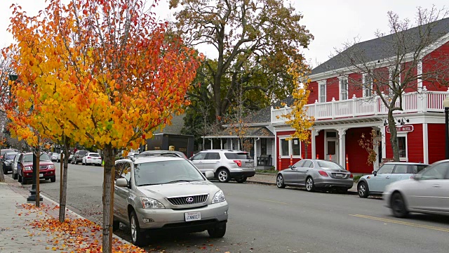
[{"label": "leaf-strewn concrete sidewalk at the lower left", "polygon": [[[27,204],[27,194],[13,183],[0,183],[0,252],[100,252],[102,228],[44,197],[41,207]],[[114,235],[113,252],[145,252]]]}]

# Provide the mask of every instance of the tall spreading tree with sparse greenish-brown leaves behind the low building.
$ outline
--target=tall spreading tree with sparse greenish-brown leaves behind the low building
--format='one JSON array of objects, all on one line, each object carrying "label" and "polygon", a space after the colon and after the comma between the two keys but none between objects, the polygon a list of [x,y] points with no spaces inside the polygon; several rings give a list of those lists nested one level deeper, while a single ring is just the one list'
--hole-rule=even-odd
[{"label": "tall spreading tree with sparse greenish-brown leaves behind the low building", "polygon": [[217,118],[225,115],[236,90],[253,91],[250,96],[267,103],[291,93],[287,67],[304,60],[300,49],[313,39],[295,8],[283,0],[170,0],[170,8],[176,7],[181,9],[175,30],[185,42],[215,50],[216,60],[205,61],[198,74],[210,87]]}]

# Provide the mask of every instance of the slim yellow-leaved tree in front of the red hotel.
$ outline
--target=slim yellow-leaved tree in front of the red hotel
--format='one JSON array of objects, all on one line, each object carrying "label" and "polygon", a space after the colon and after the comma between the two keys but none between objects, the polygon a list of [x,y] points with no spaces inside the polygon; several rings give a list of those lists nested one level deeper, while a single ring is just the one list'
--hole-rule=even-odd
[{"label": "slim yellow-leaved tree in front of the red hotel", "polygon": [[295,133],[291,135],[291,138],[298,138],[304,143],[305,157],[307,158],[307,147],[310,144],[311,127],[314,126],[315,122],[314,117],[307,115],[307,108],[305,107],[310,94],[309,89],[307,89],[310,82],[307,78],[309,66],[302,63],[302,61],[297,60],[288,68],[288,74],[293,78],[293,84],[295,86],[292,94],[293,105],[291,105],[292,110],[288,114],[282,116],[286,118],[286,124],[290,124],[292,128],[295,129]]}]

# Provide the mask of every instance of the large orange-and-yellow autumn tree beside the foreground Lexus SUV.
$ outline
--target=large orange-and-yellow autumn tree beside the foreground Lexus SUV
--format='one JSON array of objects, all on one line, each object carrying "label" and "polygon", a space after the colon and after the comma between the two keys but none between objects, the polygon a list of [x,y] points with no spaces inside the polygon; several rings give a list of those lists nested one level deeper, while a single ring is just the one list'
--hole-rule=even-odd
[{"label": "large orange-and-yellow autumn tree beside the foreground Lexus SUV", "polygon": [[[182,113],[201,57],[180,38],[168,36],[167,24],[157,23],[144,4],[51,0],[32,22],[13,6],[10,30],[21,64],[33,72],[27,83],[36,86],[38,98],[32,99],[45,105],[39,107],[42,113],[69,125],[66,134],[74,141],[95,145],[105,158],[102,252],[112,252],[117,150],[138,148],[155,129],[170,124],[172,115]],[[23,22],[22,30],[16,29]],[[39,36],[21,44],[25,34]],[[139,244],[143,238],[137,239]]]}]

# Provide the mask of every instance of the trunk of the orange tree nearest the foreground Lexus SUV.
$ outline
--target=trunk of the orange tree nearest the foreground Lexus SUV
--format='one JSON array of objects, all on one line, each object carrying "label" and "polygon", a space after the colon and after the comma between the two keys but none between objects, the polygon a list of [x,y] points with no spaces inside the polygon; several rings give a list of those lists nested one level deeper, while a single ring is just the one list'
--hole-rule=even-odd
[{"label": "trunk of the orange tree nearest the foreground Lexus SUV", "polygon": [[115,154],[112,145],[103,148],[105,168],[103,178],[103,253],[112,253],[112,216],[114,214]]}]

